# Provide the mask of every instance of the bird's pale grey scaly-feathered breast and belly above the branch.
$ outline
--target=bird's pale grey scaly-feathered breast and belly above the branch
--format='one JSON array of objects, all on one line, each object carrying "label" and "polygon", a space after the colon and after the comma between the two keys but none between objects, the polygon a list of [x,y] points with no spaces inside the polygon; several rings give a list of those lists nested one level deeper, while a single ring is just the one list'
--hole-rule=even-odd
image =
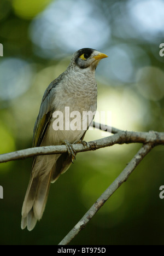
[{"label": "bird's pale grey scaly-feathered breast and belly above the branch", "polygon": [[63,139],[71,143],[78,142],[96,113],[95,79],[69,79],[58,84],[52,108],[54,112],[47,134],[49,144],[58,144]]}]

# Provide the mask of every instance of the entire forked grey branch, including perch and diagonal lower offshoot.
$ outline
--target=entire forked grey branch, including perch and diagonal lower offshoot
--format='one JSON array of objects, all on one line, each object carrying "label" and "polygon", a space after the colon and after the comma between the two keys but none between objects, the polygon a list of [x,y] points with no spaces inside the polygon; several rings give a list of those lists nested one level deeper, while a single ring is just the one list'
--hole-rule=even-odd
[{"label": "entire forked grey branch, including perch and diagonal lower offshoot", "polygon": [[[74,226],[74,228],[66,235],[65,238],[59,243],[59,245],[67,245],[90,221],[90,219],[96,214],[96,212],[104,205],[110,196],[124,183],[136,166],[142,161],[153,147],[158,145],[164,145],[164,132],[133,132],[122,131],[114,127],[105,126],[102,124],[93,123],[92,125],[103,131],[111,131],[112,136],[106,138],[97,139],[96,141],[87,142],[86,146],[83,144],[73,144],[75,152],[85,152],[89,150],[96,150],[99,148],[113,146],[114,144],[129,144],[129,143],[142,143],[142,148],[134,156],[134,158],[125,167],[124,171],[115,179],[115,181],[107,188],[106,191],[97,199],[94,205],[89,211],[81,218],[81,220]],[[67,152],[65,145],[60,146],[48,146],[38,148],[28,148],[0,155],[0,163],[13,160],[30,158],[36,155],[50,155],[50,154],[62,154]]]}]

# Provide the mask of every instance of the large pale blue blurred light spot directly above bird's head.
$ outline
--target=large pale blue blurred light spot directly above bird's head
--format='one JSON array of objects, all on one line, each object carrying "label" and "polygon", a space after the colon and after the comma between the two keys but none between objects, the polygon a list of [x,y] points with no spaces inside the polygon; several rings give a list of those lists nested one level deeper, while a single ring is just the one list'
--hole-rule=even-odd
[{"label": "large pale blue blurred light spot directly above bird's head", "polygon": [[89,1],[58,0],[33,20],[30,34],[42,49],[42,57],[61,57],[80,48],[102,48],[109,40],[110,27]]}]

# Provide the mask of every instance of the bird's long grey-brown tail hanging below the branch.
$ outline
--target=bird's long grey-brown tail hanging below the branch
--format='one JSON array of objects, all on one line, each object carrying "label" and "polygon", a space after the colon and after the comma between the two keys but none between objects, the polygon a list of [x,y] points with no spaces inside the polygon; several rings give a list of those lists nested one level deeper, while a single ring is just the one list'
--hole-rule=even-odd
[{"label": "bird's long grey-brown tail hanging below the branch", "polygon": [[[56,162],[56,160],[55,160]],[[31,231],[43,216],[48,199],[54,159],[52,156],[38,156],[34,162],[30,182],[22,206],[21,228]]]}]

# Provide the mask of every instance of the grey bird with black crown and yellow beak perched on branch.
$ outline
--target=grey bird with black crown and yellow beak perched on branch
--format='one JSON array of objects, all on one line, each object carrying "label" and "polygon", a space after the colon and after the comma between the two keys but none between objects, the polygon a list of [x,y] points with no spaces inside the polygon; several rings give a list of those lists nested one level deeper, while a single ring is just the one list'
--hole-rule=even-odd
[{"label": "grey bird with black crown and yellow beak perched on branch", "polygon": [[[86,121],[87,129],[66,129],[66,107],[72,113],[95,113],[97,109],[97,83],[95,70],[106,54],[92,48],[76,51],[65,72],[50,83],[45,90],[39,114],[34,125],[33,147],[65,144],[67,153],[35,156],[32,164],[30,182],[22,206],[21,229],[33,230],[45,210],[50,184],[60,174],[65,173],[76,153],[72,144],[83,143],[83,139],[92,120]],[[63,130],[54,129],[54,113],[63,113]],[[91,119],[93,119],[94,115]]]}]

